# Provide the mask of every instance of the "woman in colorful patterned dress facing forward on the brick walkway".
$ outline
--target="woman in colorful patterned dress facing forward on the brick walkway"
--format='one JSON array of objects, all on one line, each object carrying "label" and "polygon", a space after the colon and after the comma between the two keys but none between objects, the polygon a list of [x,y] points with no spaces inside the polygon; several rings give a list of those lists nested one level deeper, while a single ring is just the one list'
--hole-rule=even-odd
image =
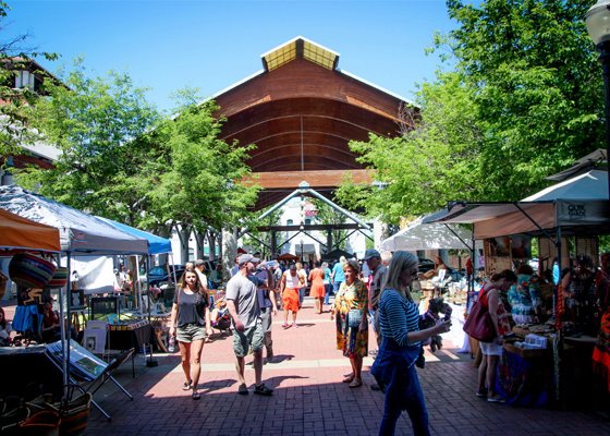
[{"label": "woman in colorful patterned dress facing forward on the brick walkway", "polygon": [[345,262],[343,271],[345,281],[341,283],[334,308],[330,314],[331,319],[337,315],[337,349],[350,358],[352,365],[352,372],[345,376],[343,383],[349,383],[351,388],[357,388],[362,386],[363,358],[368,354],[368,291],[358,278],[361,267],[356,261]]}]

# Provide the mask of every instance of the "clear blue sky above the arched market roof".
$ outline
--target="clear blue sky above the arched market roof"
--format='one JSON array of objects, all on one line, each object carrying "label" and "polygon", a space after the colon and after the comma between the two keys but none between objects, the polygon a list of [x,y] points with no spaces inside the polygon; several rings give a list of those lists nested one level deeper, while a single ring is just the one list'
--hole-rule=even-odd
[{"label": "clear blue sky above the arched market roof", "polygon": [[8,1],[3,38],[29,33],[30,46],[60,53],[41,62],[51,72],[77,56],[91,75],[126,72],[161,110],[180,88],[209,97],[256,73],[260,55],[295,36],[339,52],[340,69],[413,99],[439,65],[425,55],[435,32],[455,25],[444,0]]}]

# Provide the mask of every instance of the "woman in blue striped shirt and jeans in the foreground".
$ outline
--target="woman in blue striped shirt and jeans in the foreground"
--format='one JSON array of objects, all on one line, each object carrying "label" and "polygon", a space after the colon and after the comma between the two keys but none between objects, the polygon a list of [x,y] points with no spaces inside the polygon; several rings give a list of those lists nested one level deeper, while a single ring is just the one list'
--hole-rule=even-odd
[{"label": "woman in blue striped shirt and jeans in the foreground", "polygon": [[382,342],[370,373],[385,387],[386,402],[379,435],[393,435],[396,421],[406,410],[415,435],[429,435],[428,411],[417,378],[415,361],[422,341],[449,331],[450,320],[419,330],[419,311],[411,296],[411,282],[417,278],[417,257],[395,252],[379,301]]}]

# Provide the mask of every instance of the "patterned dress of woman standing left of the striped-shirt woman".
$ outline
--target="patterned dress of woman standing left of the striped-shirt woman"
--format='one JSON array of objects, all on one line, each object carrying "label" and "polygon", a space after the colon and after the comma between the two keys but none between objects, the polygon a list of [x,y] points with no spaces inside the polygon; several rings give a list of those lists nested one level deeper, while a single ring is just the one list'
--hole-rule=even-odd
[{"label": "patterned dress of woman standing left of the striped-shirt woman", "polygon": [[347,324],[350,310],[358,308],[363,312],[368,310],[366,284],[361,280],[354,280],[352,284],[342,282],[334,306],[337,307],[337,349],[342,350],[346,358],[368,355],[368,328],[359,331],[358,327],[350,327]]}]

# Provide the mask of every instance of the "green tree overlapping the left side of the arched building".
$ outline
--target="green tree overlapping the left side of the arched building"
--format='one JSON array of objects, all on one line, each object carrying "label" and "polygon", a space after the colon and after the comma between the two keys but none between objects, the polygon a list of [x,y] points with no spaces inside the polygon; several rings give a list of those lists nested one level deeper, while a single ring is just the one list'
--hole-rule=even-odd
[{"label": "green tree overlapping the left side of the arched building", "polygon": [[146,165],[155,186],[147,195],[160,222],[220,230],[239,226],[256,202],[258,186],[240,183],[251,172],[245,160],[253,146],[219,140],[223,120],[216,110],[213,101],[187,101],[148,135],[158,152]]}]

